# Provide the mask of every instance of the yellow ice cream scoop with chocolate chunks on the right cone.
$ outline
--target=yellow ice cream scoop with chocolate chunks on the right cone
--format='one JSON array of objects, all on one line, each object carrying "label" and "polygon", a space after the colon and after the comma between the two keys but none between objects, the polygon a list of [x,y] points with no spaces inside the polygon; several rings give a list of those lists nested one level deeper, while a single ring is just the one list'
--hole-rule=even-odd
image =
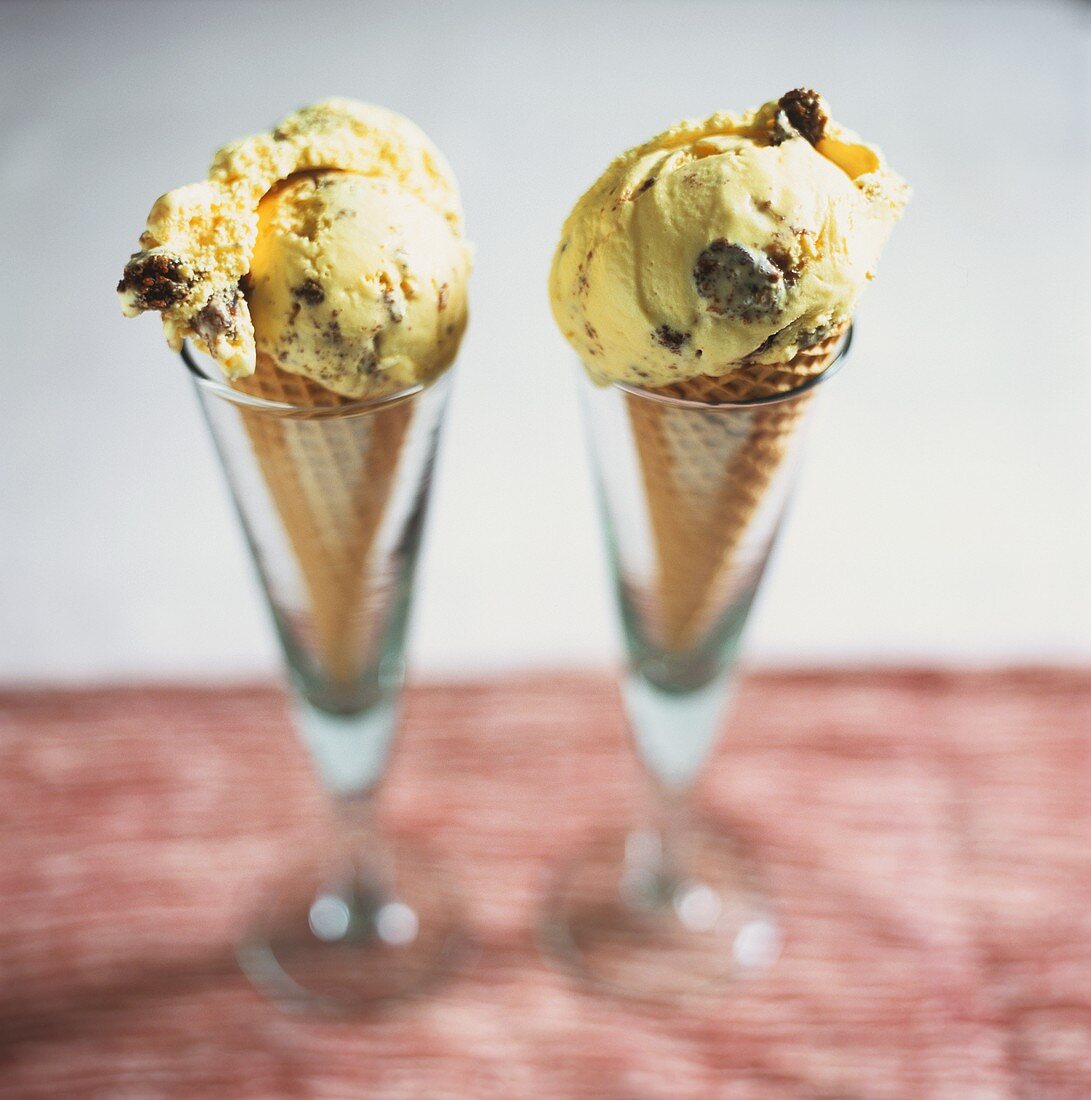
[{"label": "yellow ice cream scoop with chocolate chunks on the right cone", "polygon": [[908,197],[797,89],[618,156],[553,260],[565,337],[600,382],[659,386],[786,362],[851,319]]}]

